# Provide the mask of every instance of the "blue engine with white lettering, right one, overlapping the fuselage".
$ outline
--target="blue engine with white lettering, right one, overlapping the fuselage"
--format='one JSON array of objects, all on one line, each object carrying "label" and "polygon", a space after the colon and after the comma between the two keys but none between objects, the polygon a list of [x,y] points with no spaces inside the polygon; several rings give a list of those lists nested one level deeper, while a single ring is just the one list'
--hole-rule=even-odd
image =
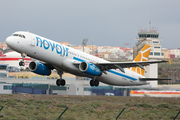
[{"label": "blue engine with white lettering, right one, overlapping the fuselage", "polygon": [[93,76],[101,76],[102,74],[101,70],[96,65],[85,61],[79,65],[79,70]]}]

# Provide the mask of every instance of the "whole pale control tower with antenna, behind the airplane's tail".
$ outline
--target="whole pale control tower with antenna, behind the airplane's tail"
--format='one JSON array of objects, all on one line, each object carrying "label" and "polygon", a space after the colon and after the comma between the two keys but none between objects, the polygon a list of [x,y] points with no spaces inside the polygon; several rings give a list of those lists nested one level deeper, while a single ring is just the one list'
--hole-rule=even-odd
[{"label": "whole pale control tower with antenna, behind the airplane's tail", "polygon": [[[141,29],[139,31],[138,38],[135,39],[138,42],[136,43],[135,47],[133,47],[133,58],[137,56],[137,54],[144,47],[145,44],[151,46],[149,60],[158,60],[164,58],[164,51],[161,50],[160,44],[160,41],[162,41],[162,39],[159,38],[159,33],[156,29],[151,29],[150,24],[149,30]],[[158,78],[158,64],[151,64],[149,66],[146,66],[144,76],[147,78]],[[151,87],[157,87],[157,81],[149,82]]]}]

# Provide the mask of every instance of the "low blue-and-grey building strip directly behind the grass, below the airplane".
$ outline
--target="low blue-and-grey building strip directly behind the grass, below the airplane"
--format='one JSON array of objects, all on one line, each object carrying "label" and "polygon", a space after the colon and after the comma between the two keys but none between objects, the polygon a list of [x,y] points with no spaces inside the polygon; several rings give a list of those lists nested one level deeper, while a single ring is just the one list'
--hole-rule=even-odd
[{"label": "low blue-and-grey building strip directly behind the grass, below the airplane", "polygon": [[[12,79],[13,80],[13,79]],[[20,80],[21,81],[21,80]],[[39,80],[36,80],[39,81]],[[48,81],[54,81],[49,79]],[[12,82],[12,81],[11,81]],[[2,94],[51,94],[51,95],[112,95],[113,96],[129,96],[129,89],[114,88],[113,86],[91,87],[85,81],[84,86],[82,81],[73,81],[65,86],[56,86],[53,84],[41,83],[3,83],[0,84],[0,93]],[[72,81],[71,81],[72,82]],[[76,82],[76,83],[75,83]]]}]

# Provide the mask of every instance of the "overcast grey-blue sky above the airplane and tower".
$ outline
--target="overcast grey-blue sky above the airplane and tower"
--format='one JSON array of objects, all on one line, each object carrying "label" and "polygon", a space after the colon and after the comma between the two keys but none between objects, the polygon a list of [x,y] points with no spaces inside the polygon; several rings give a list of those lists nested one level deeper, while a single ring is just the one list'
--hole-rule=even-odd
[{"label": "overcast grey-blue sky above the airplane and tower", "polygon": [[154,27],[162,48],[180,48],[180,0],[1,0],[0,42],[29,31],[57,42],[135,46]]}]

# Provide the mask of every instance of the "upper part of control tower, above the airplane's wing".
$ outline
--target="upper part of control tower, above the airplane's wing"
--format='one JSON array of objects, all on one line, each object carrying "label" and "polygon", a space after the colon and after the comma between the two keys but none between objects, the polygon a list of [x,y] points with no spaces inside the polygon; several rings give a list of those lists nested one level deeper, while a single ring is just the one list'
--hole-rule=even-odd
[{"label": "upper part of control tower, above the airplane's wing", "polygon": [[133,58],[136,57],[138,52],[143,48],[145,44],[151,46],[151,52],[149,54],[149,59],[163,59],[164,51],[161,50],[160,41],[162,39],[159,38],[159,33],[157,30],[140,30],[138,33],[138,38],[135,39],[138,42],[136,46],[133,48]]}]

